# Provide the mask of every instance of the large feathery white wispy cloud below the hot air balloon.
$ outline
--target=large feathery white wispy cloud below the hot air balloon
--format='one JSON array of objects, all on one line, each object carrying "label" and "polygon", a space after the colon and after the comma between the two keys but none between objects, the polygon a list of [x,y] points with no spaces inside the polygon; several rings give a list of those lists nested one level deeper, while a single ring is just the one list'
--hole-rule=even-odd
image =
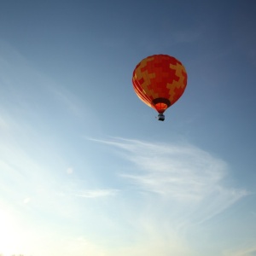
[{"label": "large feathery white wispy cloud below the hot air balloon", "polygon": [[119,138],[99,142],[122,149],[119,153],[135,166],[132,173],[122,173],[121,177],[142,193],[154,193],[178,207],[189,205],[190,218],[196,223],[247,195],[245,189],[227,185],[229,166],[224,160],[192,145]]}]

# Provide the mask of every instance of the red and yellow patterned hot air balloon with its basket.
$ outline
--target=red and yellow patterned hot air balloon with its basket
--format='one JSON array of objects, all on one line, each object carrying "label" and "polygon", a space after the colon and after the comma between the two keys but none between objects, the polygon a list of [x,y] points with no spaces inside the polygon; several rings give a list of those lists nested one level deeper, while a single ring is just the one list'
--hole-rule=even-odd
[{"label": "red and yellow patterned hot air balloon with its basket", "polygon": [[132,75],[137,96],[158,113],[160,121],[164,112],[183,95],[187,73],[183,64],[169,55],[151,55],[137,64]]}]

